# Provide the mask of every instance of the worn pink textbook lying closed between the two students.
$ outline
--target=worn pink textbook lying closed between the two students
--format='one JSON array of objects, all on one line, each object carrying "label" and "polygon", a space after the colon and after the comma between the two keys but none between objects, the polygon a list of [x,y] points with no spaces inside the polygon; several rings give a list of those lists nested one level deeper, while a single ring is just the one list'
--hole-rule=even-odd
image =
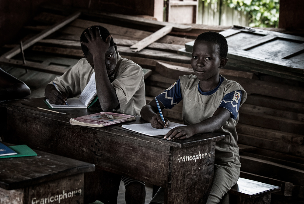
[{"label": "worn pink textbook lying closed between the two students", "polygon": [[116,123],[135,120],[135,119],[136,117],[133,115],[111,113],[111,112],[100,112],[91,115],[80,116],[77,118],[71,118],[70,124],[88,126],[88,127],[104,127]]}]

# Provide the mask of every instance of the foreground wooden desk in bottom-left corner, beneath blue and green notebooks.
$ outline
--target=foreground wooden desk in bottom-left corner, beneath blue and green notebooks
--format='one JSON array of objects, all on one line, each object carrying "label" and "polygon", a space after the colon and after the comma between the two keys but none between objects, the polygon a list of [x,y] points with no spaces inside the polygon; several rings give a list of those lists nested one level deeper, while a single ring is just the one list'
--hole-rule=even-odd
[{"label": "foreground wooden desk in bottom-left corner, beneath blue and green notebooks", "polygon": [[83,203],[84,173],[95,165],[34,151],[37,156],[0,159],[0,204]]}]

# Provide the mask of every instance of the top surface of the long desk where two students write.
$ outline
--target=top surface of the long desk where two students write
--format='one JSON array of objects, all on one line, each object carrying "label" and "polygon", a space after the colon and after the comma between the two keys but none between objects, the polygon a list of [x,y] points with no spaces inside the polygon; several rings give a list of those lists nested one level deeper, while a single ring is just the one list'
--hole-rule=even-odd
[{"label": "top surface of the long desk where two students write", "polygon": [[[28,114],[34,114],[36,116],[41,117],[47,117],[54,120],[59,120],[64,123],[69,123],[70,118],[75,118],[79,116],[89,115],[93,113],[101,112],[102,110],[98,107],[90,107],[87,109],[52,109],[56,110],[58,112],[66,113],[60,114],[60,113],[54,113],[47,110],[37,109],[37,107],[49,109],[48,106],[44,102],[45,98],[28,98],[28,99],[21,99],[21,100],[13,100],[8,102],[2,102],[0,103],[0,107],[5,107],[7,109],[20,111],[23,113]],[[208,143],[208,142],[214,142],[218,141],[224,138],[224,135],[221,133],[205,133],[205,134],[198,134],[194,137],[185,139],[185,140],[174,140],[174,141],[168,141],[163,139],[163,136],[154,136],[150,137],[147,135],[139,134],[133,131],[125,130],[121,127],[122,124],[137,124],[137,123],[147,123],[145,120],[143,120],[141,117],[136,116],[136,120],[129,121],[129,122],[123,122],[119,124],[114,124],[107,127],[85,127],[88,129],[94,129],[97,131],[107,131],[107,132],[114,132],[118,134],[122,134],[127,137],[133,137],[138,138],[142,140],[146,140],[149,142],[153,142],[155,144],[163,144],[168,145],[172,147],[189,147],[193,145]],[[71,125],[73,127],[73,125]]]}]

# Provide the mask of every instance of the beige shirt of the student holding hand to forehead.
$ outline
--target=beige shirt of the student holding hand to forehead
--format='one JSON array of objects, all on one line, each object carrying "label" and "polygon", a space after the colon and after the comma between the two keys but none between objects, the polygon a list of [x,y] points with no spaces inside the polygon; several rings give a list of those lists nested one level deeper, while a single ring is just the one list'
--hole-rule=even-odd
[{"label": "beige shirt of the student holding hand to forehead", "polygon": [[[119,101],[119,107],[114,110],[140,116],[140,110],[146,104],[143,70],[133,61],[121,58],[118,52],[116,66],[118,66],[117,71],[115,70],[113,76],[110,77]],[[68,94],[68,98],[77,97],[89,83],[93,73],[94,69],[85,58],[82,58],[50,84],[55,82],[60,91]]]}]

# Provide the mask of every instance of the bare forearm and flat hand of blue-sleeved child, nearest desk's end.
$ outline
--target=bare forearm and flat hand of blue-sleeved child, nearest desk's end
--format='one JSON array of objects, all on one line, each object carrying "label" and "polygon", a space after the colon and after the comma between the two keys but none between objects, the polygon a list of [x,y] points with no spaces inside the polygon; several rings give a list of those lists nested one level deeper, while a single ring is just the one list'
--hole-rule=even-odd
[{"label": "bare forearm and flat hand of blue-sleeved child, nearest desk's end", "polygon": [[164,138],[186,139],[195,134],[217,131],[230,117],[230,111],[225,108],[218,108],[212,117],[201,121],[200,123],[175,127],[170,130]]}]

